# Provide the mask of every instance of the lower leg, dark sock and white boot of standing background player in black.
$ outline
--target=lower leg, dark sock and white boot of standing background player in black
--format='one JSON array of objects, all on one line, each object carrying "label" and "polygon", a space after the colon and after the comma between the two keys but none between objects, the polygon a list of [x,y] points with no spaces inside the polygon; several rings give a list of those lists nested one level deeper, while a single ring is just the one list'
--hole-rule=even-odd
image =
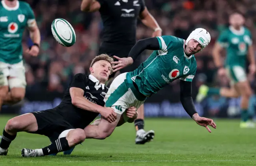
[{"label": "lower leg, dark sock and white boot of standing background player in black", "polygon": [[155,132],[153,130],[145,131],[144,130],[144,104],[142,104],[138,110],[138,118],[135,119],[134,125],[136,129],[136,144],[145,144],[154,139]]}]

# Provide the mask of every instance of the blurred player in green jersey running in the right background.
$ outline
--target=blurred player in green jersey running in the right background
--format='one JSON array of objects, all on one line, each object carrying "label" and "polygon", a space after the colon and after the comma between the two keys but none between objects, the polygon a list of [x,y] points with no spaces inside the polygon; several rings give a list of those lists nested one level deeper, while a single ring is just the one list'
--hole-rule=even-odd
[{"label": "blurred player in green jersey running in the right background", "polygon": [[[246,77],[246,58],[250,61],[250,74],[256,70],[254,51],[252,47],[252,36],[244,24],[244,17],[235,13],[230,16],[230,27],[222,31],[213,49],[213,57],[218,75],[227,75],[230,79],[231,88],[209,88],[202,85],[196,98],[201,102],[206,96],[220,95],[229,98],[241,96],[241,128],[255,127],[248,120],[248,102],[252,96],[252,90]],[[220,51],[226,49],[226,62],[222,64]]]}]

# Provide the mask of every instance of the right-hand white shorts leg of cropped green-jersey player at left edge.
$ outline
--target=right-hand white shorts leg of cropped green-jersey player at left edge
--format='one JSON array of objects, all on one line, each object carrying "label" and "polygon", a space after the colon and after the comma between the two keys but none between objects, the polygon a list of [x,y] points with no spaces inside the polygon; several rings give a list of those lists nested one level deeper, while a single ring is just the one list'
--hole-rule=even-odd
[{"label": "right-hand white shorts leg of cropped green-jersey player at left edge", "polygon": [[26,88],[25,67],[22,61],[10,65],[8,84],[10,89],[16,88],[20,92]]}]

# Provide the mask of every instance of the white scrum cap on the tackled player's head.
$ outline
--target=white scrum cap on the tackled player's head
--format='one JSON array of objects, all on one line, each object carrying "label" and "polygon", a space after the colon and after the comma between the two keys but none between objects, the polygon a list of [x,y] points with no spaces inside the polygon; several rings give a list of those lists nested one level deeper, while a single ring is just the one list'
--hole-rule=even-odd
[{"label": "white scrum cap on the tackled player's head", "polygon": [[188,41],[190,41],[191,39],[195,39],[196,41],[198,41],[198,43],[202,45],[202,49],[204,49],[210,43],[211,35],[204,28],[196,28],[190,33],[185,44],[187,45]]}]

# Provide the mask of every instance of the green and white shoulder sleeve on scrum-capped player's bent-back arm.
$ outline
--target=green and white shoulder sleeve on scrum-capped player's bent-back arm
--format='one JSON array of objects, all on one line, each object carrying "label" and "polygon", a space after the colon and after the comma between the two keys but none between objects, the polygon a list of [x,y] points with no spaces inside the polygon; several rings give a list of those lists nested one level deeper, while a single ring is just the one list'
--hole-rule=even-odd
[{"label": "green and white shoulder sleeve on scrum-capped player's bent-back arm", "polygon": [[178,43],[183,45],[183,43],[181,43],[181,41],[174,36],[166,35],[166,36],[158,36],[156,38],[158,39],[159,48],[160,48],[160,50],[158,51],[159,55],[166,55],[168,53],[168,49],[172,50],[178,45]]}]

